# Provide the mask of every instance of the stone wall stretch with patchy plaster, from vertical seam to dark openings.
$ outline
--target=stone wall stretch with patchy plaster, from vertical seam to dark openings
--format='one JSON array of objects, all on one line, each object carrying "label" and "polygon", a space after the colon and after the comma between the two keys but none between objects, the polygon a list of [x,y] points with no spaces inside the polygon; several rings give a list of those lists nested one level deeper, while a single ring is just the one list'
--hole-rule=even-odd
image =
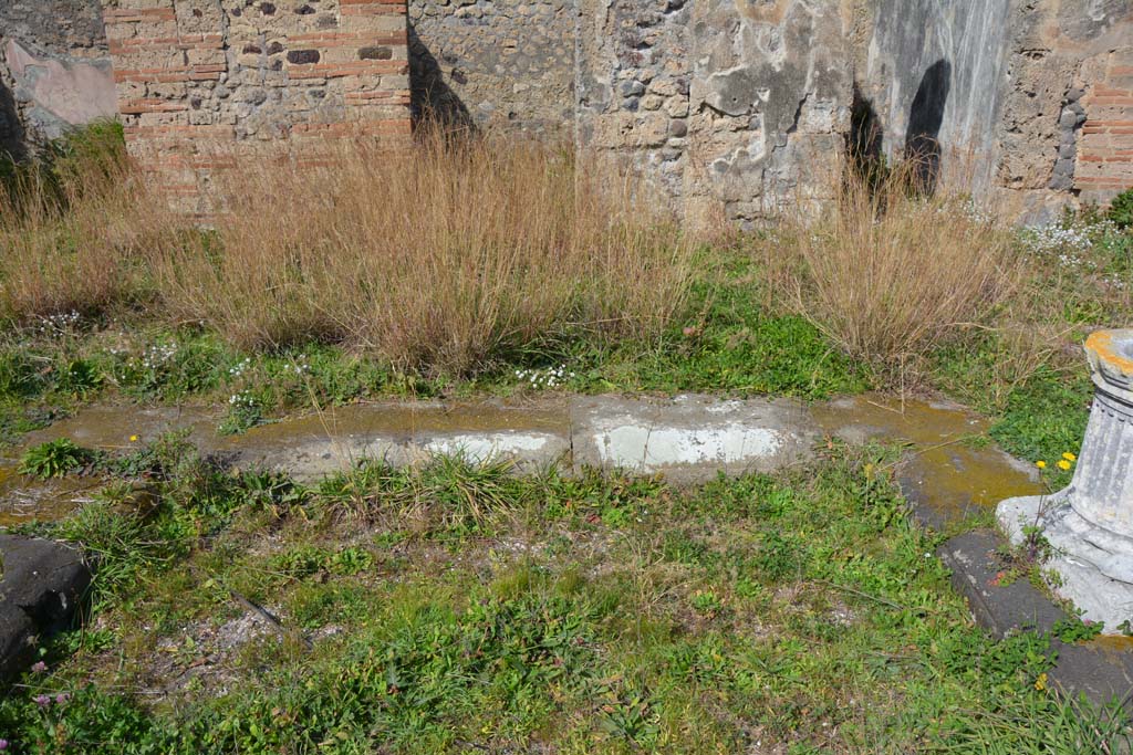
[{"label": "stone wall stretch with patchy plaster, from vertical seam to dark openings", "polygon": [[851,102],[836,5],[591,0],[582,18],[583,145],[632,156],[693,217],[820,189]]}]

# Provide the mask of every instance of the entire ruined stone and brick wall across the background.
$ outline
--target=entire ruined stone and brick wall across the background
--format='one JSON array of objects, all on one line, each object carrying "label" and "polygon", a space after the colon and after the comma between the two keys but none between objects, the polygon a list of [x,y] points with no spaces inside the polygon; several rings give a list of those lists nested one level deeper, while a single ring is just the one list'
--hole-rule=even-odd
[{"label": "entire ruined stone and brick wall across the background", "polygon": [[0,3],[0,139],[109,112],[109,54],[131,152],[190,204],[218,145],[403,145],[429,114],[741,222],[820,196],[862,119],[1028,218],[1133,185],[1133,0],[102,2],[105,36],[97,0]]}]

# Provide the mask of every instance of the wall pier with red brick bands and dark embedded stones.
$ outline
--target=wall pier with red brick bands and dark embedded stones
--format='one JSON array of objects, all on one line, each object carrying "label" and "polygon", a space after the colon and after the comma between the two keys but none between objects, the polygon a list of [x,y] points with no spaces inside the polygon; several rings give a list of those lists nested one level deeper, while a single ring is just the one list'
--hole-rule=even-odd
[{"label": "wall pier with red brick bands and dark embedded stones", "polygon": [[208,212],[213,171],[241,156],[408,144],[398,0],[107,0],[103,17],[130,153],[186,211]]}]

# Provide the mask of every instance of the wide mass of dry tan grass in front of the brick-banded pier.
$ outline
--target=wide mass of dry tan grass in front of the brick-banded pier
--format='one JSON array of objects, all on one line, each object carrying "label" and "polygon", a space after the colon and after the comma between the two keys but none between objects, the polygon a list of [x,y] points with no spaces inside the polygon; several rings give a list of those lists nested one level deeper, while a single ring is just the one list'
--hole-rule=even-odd
[{"label": "wide mass of dry tan grass in front of the brick-banded pier", "polygon": [[5,312],[97,309],[143,285],[123,274],[139,240],[162,316],[247,348],[341,341],[410,370],[468,374],[578,328],[649,333],[680,306],[681,229],[644,187],[571,151],[429,131],[411,152],[331,157],[245,161],[219,181],[224,212],[206,233],[126,174],[66,212],[25,213],[0,225],[15,250],[0,263]]}]

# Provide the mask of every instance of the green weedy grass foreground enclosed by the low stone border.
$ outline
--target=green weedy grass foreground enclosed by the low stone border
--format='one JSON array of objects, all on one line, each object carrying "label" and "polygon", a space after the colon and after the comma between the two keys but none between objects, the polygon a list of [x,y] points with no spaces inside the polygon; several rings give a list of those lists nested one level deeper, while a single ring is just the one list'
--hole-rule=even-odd
[{"label": "green weedy grass foreground enclosed by the low stone border", "polygon": [[688,491],[459,458],[305,489],[174,440],[143,456],[152,498],[113,484],[37,527],[99,555],[95,615],[0,702],[12,752],[1054,753],[1127,735],[1037,688],[1046,638],[972,625],[892,480],[867,474],[884,448]]}]

